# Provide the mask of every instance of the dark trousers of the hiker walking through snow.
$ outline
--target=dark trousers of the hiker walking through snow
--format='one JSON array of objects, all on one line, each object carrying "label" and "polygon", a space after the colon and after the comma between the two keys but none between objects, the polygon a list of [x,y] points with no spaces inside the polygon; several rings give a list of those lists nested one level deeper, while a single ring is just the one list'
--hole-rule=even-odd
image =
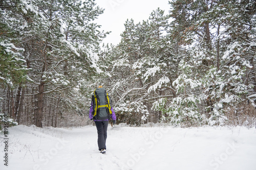
[{"label": "dark trousers of the hiker walking through snow", "polygon": [[108,130],[109,120],[95,121],[95,125],[98,131],[98,147],[101,151],[101,149],[106,149],[106,131]]}]

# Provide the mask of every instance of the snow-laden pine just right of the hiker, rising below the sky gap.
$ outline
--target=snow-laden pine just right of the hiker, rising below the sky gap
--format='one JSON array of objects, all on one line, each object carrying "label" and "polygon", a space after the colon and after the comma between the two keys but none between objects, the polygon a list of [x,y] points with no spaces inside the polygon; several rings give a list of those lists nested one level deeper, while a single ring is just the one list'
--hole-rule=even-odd
[{"label": "snow-laden pine just right of the hiker, rising below the sky gap", "polygon": [[110,80],[118,94],[119,117],[131,124],[159,122],[161,112],[151,111],[152,101],[176,93],[172,79],[178,58],[167,35],[168,18],[157,9],[148,20],[137,24],[127,20],[121,42],[109,54],[114,61]]}]

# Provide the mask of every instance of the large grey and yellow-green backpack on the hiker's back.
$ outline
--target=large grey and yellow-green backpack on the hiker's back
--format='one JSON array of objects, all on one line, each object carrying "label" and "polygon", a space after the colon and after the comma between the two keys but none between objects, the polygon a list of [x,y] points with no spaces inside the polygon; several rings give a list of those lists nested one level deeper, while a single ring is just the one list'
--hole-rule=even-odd
[{"label": "large grey and yellow-green backpack on the hiker's back", "polygon": [[96,120],[110,119],[112,116],[112,101],[106,90],[101,87],[94,90],[92,95],[93,118]]}]

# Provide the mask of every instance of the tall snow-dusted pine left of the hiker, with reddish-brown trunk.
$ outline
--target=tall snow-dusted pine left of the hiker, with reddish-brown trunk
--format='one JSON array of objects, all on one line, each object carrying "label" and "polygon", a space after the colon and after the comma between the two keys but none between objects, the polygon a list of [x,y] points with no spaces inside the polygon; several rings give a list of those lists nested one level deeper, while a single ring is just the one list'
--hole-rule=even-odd
[{"label": "tall snow-dusted pine left of the hiker, with reddish-brown trunk", "polygon": [[[102,14],[103,9],[97,7],[95,1],[78,0],[5,1],[1,5],[7,14],[1,19],[6,19],[6,25],[14,28],[8,28],[12,31],[10,35],[18,33],[18,36],[13,36],[15,39],[11,36],[5,38],[12,41],[13,46],[23,49],[19,55],[26,61],[24,65],[30,67],[29,81],[25,83],[29,86],[27,92],[32,101],[36,101],[30,108],[35,125],[42,127],[47,101],[52,99],[53,103],[58,103],[56,115],[61,115],[63,110],[77,109],[75,102],[80,101],[78,85],[97,74],[96,53],[100,40],[107,33],[98,31],[94,19]],[[8,8],[10,6],[14,8]],[[24,93],[25,87],[17,90],[17,98]],[[16,105],[21,110],[24,107],[22,101],[17,100],[20,106]],[[65,105],[68,107],[61,110]]]}]

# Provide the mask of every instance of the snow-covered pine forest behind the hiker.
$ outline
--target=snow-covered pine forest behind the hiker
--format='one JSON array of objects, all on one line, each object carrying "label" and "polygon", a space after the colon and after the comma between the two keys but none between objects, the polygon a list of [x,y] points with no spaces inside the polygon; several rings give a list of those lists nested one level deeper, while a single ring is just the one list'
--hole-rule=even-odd
[{"label": "snow-covered pine forest behind the hiker", "polygon": [[113,45],[95,0],[2,0],[0,125],[88,125],[101,85],[118,124],[255,126],[256,2],[166,5],[127,19]]}]

